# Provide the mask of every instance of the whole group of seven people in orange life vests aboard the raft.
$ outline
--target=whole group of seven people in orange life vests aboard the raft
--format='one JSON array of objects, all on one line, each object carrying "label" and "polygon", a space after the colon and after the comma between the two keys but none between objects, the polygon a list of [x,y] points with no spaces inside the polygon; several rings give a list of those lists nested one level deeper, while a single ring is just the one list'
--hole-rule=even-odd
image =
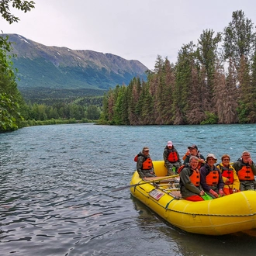
[{"label": "whole group of seven people in orange life vests aboard the raft", "polygon": [[[247,150],[233,164],[230,164],[228,154],[223,154],[221,163],[216,164],[217,158],[214,154],[208,154],[205,158],[198,147],[192,145],[182,157],[182,164],[175,146],[168,141],[163,157],[167,175],[179,174],[180,191],[184,199],[202,201],[206,194],[216,199],[223,195],[256,189],[256,166]],[[148,147],[143,148],[135,161],[140,178],[156,176]]]}]

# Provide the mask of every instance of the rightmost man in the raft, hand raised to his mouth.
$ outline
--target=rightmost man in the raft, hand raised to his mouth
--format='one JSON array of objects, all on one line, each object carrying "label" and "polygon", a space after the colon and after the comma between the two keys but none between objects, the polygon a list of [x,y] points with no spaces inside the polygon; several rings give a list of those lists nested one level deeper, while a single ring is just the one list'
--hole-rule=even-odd
[{"label": "rightmost man in the raft, hand raised to his mouth", "polygon": [[244,151],[242,156],[233,164],[240,180],[240,191],[256,189],[254,175],[256,175],[256,166],[251,160],[251,154]]}]

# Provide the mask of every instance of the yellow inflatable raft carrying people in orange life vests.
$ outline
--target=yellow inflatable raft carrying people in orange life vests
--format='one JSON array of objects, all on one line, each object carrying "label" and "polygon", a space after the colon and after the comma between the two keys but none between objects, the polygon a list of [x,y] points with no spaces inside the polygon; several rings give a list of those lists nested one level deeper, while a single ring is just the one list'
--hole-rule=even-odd
[{"label": "yellow inflatable raft carrying people in orange life vests", "polygon": [[[157,176],[167,174],[164,161],[153,163]],[[130,192],[168,223],[189,233],[218,236],[256,228],[255,191],[191,202],[182,199],[177,184],[175,179],[146,183],[135,171]]]}]

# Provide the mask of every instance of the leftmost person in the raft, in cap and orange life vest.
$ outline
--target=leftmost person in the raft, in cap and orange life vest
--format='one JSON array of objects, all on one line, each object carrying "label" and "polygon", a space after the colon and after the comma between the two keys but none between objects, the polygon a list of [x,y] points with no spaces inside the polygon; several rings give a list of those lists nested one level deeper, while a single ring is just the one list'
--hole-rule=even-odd
[{"label": "leftmost person in the raft, in cap and orange life vest", "polygon": [[140,178],[155,177],[154,165],[150,158],[149,148],[144,147],[137,155],[137,171]]}]

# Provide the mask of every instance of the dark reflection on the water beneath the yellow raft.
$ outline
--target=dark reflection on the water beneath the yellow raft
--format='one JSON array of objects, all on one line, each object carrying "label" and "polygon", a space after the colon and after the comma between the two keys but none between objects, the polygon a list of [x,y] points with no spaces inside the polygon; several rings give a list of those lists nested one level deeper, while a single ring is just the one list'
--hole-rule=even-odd
[{"label": "dark reflection on the water beneath the yellow raft", "polygon": [[[237,234],[224,236],[207,236],[200,234],[189,234],[177,227],[171,226],[156,213],[147,208],[142,202],[131,196],[134,209],[139,216],[137,218],[138,226],[148,233],[154,233],[157,230],[163,240],[175,242],[178,251],[182,255],[254,255],[256,251],[255,237],[256,229]],[[163,225],[164,223],[164,225]],[[171,247],[171,251],[175,247]],[[169,253],[171,254],[171,251]],[[175,251],[176,252],[176,251]]]}]

